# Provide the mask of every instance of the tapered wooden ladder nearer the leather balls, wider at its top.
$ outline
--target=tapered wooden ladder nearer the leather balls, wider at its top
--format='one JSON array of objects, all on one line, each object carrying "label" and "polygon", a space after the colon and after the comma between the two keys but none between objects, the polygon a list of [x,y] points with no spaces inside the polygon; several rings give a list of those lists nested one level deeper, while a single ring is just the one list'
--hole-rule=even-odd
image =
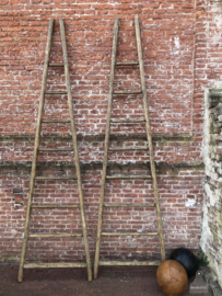
[{"label": "tapered wooden ladder nearer the leather balls, wider at its top", "polygon": [[[140,38],[140,29],[138,22],[138,15],[135,16],[135,26],[136,26],[136,37],[137,37],[137,49],[139,61],[129,61],[129,62],[116,62],[116,49],[117,49],[117,38],[118,38],[118,18],[115,19],[114,24],[114,41],[113,41],[113,54],[112,54],[112,68],[110,68],[110,81],[109,81],[109,93],[108,93],[108,110],[107,110],[107,119],[106,119],[106,135],[105,135],[105,151],[103,160],[103,173],[102,173],[102,184],[101,184],[101,197],[100,197],[100,209],[98,209],[98,224],[97,224],[97,238],[96,238],[96,250],[95,250],[95,261],[94,261],[94,278],[97,278],[98,265],[159,265],[161,261],[100,261],[100,249],[101,249],[101,236],[159,236],[160,246],[161,246],[161,257],[162,261],[165,260],[165,249],[164,249],[164,239],[162,230],[162,220],[161,220],[161,210],[159,203],[159,190],[156,182],[155,164],[153,158],[153,146],[152,146],[152,135],[150,128],[150,119],[148,112],[148,102],[147,102],[147,89],[144,80],[144,70],[143,70],[143,60],[142,60],[142,48],[141,48],[141,38]],[[140,91],[114,91],[114,75],[115,66],[129,66],[129,65],[139,65],[140,68],[140,78],[141,78],[141,90]],[[143,96],[143,109],[144,109],[144,118],[138,119],[112,119],[112,104],[113,104],[113,94],[137,94],[142,93]],[[116,147],[108,148],[109,146],[109,134],[110,134],[110,123],[145,123],[147,138],[150,151],[150,166],[151,174],[154,190],[154,204],[104,204],[105,195],[105,183],[106,179],[149,179],[150,175],[107,175],[107,158],[108,150],[142,150],[148,149],[144,147]],[[102,223],[103,223],[103,208],[104,207],[155,207],[156,217],[157,217],[157,232],[102,232]]]}]

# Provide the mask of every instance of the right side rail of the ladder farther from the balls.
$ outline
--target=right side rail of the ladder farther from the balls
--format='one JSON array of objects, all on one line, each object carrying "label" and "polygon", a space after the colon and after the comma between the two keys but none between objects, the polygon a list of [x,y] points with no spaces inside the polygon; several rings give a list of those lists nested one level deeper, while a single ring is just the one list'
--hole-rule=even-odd
[{"label": "right side rail of the ladder farther from the balls", "polygon": [[77,178],[78,178],[80,210],[81,210],[83,238],[84,238],[84,246],[85,246],[85,258],[86,258],[86,265],[87,265],[87,280],[92,281],[92,266],[91,266],[90,248],[89,248],[89,240],[87,240],[87,228],[86,228],[86,220],[85,220],[85,213],[84,213],[82,180],[81,180],[80,160],[79,160],[79,152],[78,152],[78,145],[77,145],[77,132],[75,132],[75,125],[74,125],[74,114],[73,114],[73,104],[72,104],[72,94],[71,94],[71,84],[70,84],[70,76],[69,76],[69,65],[68,65],[68,56],[67,56],[67,43],[66,43],[63,20],[60,19],[59,23],[60,23],[60,32],[61,32],[61,45],[62,45],[62,53],[63,53],[69,114],[70,114],[70,122],[71,122],[72,145],[73,145],[73,150],[74,150],[74,163],[75,163],[75,172],[77,172]]}]

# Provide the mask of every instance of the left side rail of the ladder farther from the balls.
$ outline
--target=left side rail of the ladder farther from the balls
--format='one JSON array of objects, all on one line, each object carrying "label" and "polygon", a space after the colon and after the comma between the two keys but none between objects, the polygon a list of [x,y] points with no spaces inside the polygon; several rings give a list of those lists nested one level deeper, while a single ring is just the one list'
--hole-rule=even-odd
[{"label": "left side rail of the ladder farther from the balls", "polygon": [[37,162],[38,146],[39,146],[39,140],[40,140],[40,126],[42,126],[42,117],[43,117],[43,110],[44,110],[45,90],[46,90],[46,81],[47,81],[47,75],[48,75],[48,61],[49,61],[50,48],[51,48],[52,30],[54,30],[54,20],[50,19],[49,27],[48,27],[48,38],[47,38],[47,45],[46,45],[46,56],[45,56],[45,64],[44,64],[42,91],[40,91],[40,98],[39,98],[37,126],[36,126],[36,134],[35,134],[35,144],[34,144],[34,152],[33,152],[33,162],[32,162],[32,171],[31,171],[24,237],[23,237],[22,253],[21,253],[21,260],[20,260],[19,276],[17,276],[19,282],[23,281],[23,267],[24,267],[24,262],[25,262],[27,237],[28,237],[28,230],[30,230],[31,207],[32,207],[32,202],[33,202],[36,162]]}]

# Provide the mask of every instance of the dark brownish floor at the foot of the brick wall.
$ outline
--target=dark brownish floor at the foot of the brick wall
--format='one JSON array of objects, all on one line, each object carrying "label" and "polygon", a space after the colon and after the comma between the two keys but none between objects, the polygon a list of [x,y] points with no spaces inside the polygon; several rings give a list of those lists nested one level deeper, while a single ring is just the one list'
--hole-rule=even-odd
[{"label": "dark brownish floor at the foot of the brick wall", "polygon": [[[17,266],[0,266],[1,296],[164,296],[157,285],[156,267],[101,267],[100,276],[86,281],[85,269],[24,270],[17,283]],[[194,281],[191,278],[190,283]],[[190,294],[189,285],[183,296]]]}]

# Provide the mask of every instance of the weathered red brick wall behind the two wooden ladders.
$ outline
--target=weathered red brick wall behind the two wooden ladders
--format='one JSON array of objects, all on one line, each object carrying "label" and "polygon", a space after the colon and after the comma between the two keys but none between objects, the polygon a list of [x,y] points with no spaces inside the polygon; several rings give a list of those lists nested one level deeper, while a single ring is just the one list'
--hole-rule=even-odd
[{"label": "weathered red brick wall behind the two wooden ladders", "polygon": [[[197,9],[196,9],[197,5]],[[97,224],[101,163],[104,150],[104,134],[107,112],[113,25],[116,15],[120,19],[117,60],[137,60],[133,15],[139,15],[149,111],[154,137],[154,157],[157,163],[161,208],[167,253],[184,246],[199,249],[201,230],[201,202],[203,167],[202,122],[203,94],[219,78],[207,77],[213,62],[220,68],[220,58],[211,42],[213,13],[206,12],[206,3],[195,1],[148,2],[118,1],[69,1],[69,0],[2,0],[0,38],[1,61],[1,200],[0,216],[2,237],[2,260],[20,257],[25,206],[28,191],[30,164],[33,152],[33,136],[40,93],[48,20],[56,19],[52,38],[51,60],[61,61],[59,35],[60,18],[65,19],[68,58],[74,115],[82,166],[83,193],[90,232],[92,258],[95,247]],[[202,12],[205,10],[205,13]],[[203,14],[202,14],[203,13]],[[202,21],[203,18],[205,20]],[[207,26],[208,24],[208,26]],[[215,32],[215,29],[214,31]],[[214,34],[212,32],[212,34]],[[195,34],[196,33],[196,34]],[[214,71],[214,70],[212,70]],[[140,87],[137,67],[119,67],[116,70],[115,89],[138,89]],[[49,70],[48,89],[63,89],[62,69]],[[194,106],[194,109],[192,109]],[[67,118],[66,96],[47,96],[45,117]],[[113,117],[141,117],[140,95],[116,96]],[[139,134],[139,138],[125,135]],[[70,130],[66,125],[43,128],[43,146],[70,145]],[[54,135],[55,137],[51,137]],[[110,145],[125,141],[144,143],[144,125],[125,124],[112,126]],[[62,136],[62,138],[61,138]],[[119,137],[120,136],[120,137]],[[109,162],[117,163],[112,170],[147,170],[149,156],[140,152],[112,152]],[[73,170],[70,153],[40,153],[39,173]],[[57,166],[57,162],[62,166]],[[52,167],[46,167],[52,162]],[[131,163],[131,166],[127,166]],[[133,163],[139,163],[133,167]],[[145,166],[147,166],[145,164]],[[55,169],[57,168],[57,169]],[[133,171],[135,172],[135,171]],[[149,172],[149,171],[147,171]],[[23,195],[16,195],[16,189]],[[58,189],[58,191],[56,191]],[[107,201],[144,201],[152,198],[148,181],[108,181]],[[72,195],[73,194],[73,195]],[[22,197],[21,197],[22,196]],[[23,198],[19,201],[16,198]],[[37,183],[34,195],[36,203],[58,198],[69,203],[77,198],[71,182],[54,184]],[[17,204],[21,203],[21,206]],[[24,203],[24,206],[23,206]],[[32,231],[45,229],[67,231],[81,229],[80,217],[73,212],[51,212],[33,215]],[[49,219],[52,218],[52,221]],[[154,229],[155,216],[150,209],[107,209],[104,213],[104,229]],[[47,219],[47,221],[46,221]],[[46,223],[45,223],[46,221]],[[154,224],[153,224],[154,221]],[[28,259],[72,260],[84,257],[82,240],[60,239],[31,241]],[[151,242],[151,243],[149,243]],[[9,248],[10,247],[10,248]],[[106,258],[157,258],[157,240],[147,238],[105,238],[102,254]]]}]

